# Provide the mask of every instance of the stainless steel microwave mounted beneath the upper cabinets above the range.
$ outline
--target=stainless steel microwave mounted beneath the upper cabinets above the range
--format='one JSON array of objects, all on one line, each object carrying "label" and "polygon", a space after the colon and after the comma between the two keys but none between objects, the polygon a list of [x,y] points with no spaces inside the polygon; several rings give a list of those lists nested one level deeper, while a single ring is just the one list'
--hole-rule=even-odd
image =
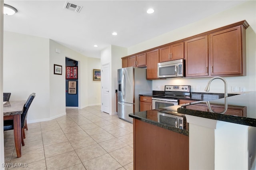
[{"label": "stainless steel microwave mounted beneath the upper cabinets above the range", "polygon": [[177,59],[157,64],[157,77],[185,77],[184,73],[185,60]]}]

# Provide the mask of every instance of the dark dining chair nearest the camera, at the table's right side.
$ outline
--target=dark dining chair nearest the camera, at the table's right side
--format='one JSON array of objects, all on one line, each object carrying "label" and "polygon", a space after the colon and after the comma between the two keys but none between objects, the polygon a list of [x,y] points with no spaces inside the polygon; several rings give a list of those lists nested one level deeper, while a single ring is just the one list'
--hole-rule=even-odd
[{"label": "dark dining chair nearest the camera, at the table's right side", "polygon": [[[25,130],[24,130],[24,125],[26,123],[26,118],[27,118],[27,113],[28,113],[28,109],[32,103],[32,101],[35,98],[35,93],[30,94],[30,96],[28,97],[28,100],[26,101],[26,103],[24,104],[23,110],[22,110],[22,114],[20,115],[20,122],[21,122],[21,144],[22,146],[25,145],[24,143],[24,138],[26,138],[25,136]],[[13,130],[13,121],[4,121],[4,131],[6,130]]]}]

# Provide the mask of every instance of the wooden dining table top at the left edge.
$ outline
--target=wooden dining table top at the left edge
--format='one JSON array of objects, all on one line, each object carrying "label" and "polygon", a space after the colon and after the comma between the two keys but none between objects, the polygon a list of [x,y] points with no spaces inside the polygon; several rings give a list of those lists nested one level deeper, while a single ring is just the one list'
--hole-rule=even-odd
[{"label": "wooden dining table top at the left edge", "polygon": [[4,116],[9,115],[21,115],[25,104],[25,100],[22,101],[8,101],[3,105]]}]

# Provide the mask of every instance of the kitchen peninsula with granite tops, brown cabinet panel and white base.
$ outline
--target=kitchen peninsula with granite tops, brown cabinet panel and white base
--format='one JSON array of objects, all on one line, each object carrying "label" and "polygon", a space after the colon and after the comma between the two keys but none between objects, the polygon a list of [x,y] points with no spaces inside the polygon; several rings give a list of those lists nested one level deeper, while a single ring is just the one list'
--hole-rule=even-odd
[{"label": "kitchen peninsula with granite tops, brown cabinet panel and white base", "polygon": [[[168,112],[168,110],[161,109],[130,114],[129,116],[134,118],[134,169],[139,169],[140,163],[138,162],[140,160],[138,159],[141,156],[142,158],[147,158],[148,155],[145,153],[157,152],[159,149],[155,149],[150,144],[153,144],[152,141],[157,141],[160,133],[156,130],[160,129],[170,131],[168,136],[176,135],[175,138],[163,136],[158,142],[168,140],[174,142],[168,143],[163,147],[165,147],[166,152],[171,152],[171,159],[180,158],[176,162],[182,161],[181,158],[183,156],[182,166],[187,164],[187,168],[182,169],[250,170],[255,168],[255,101],[256,92],[249,92],[209,102],[197,101],[187,105],[181,105],[177,111],[186,115],[189,130],[177,130],[177,128],[170,128],[168,125],[158,123],[156,119],[157,113]],[[222,113],[225,107],[227,111],[226,113]],[[240,111],[238,112],[239,114],[236,112],[237,109]],[[210,110],[213,112],[210,112]],[[145,139],[145,136],[138,136],[144,134],[142,133],[143,128],[145,128],[144,133],[149,138]],[[137,143],[136,140],[138,138],[139,142]],[[141,140],[144,140],[144,145],[141,143]],[[177,142],[178,140],[179,142]],[[186,142],[189,143],[189,148],[186,148]],[[160,143],[156,145],[159,146]],[[172,150],[173,148],[170,148],[171,146],[176,148],[176,150]],[[138,152],[141,155],[137,156]],[[189,157],[189,162],[186,162],[187,156]],[[154,169],[155,164],[158,164],[158,161],[166,157],[163,155],[150,155],[150,158],[151,162],[147,162],[147,167],[148,169]],[[169,169],[174,166],[176,165],[169,165]],[[162,169],[168,168],[163,167]]]}]

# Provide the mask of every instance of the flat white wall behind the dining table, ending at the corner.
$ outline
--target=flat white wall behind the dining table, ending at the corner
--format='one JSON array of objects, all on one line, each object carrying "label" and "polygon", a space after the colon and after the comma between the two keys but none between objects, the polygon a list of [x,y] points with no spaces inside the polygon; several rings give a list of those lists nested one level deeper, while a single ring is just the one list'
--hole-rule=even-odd
[{"label": "flat white wall behind the dining table, ending at the corner", "polygon": [[34,92],[27,120],[49,118],[49,39],[4,32],[3,63],[3,89],[12,93],[10,101],[26,100]]}]

